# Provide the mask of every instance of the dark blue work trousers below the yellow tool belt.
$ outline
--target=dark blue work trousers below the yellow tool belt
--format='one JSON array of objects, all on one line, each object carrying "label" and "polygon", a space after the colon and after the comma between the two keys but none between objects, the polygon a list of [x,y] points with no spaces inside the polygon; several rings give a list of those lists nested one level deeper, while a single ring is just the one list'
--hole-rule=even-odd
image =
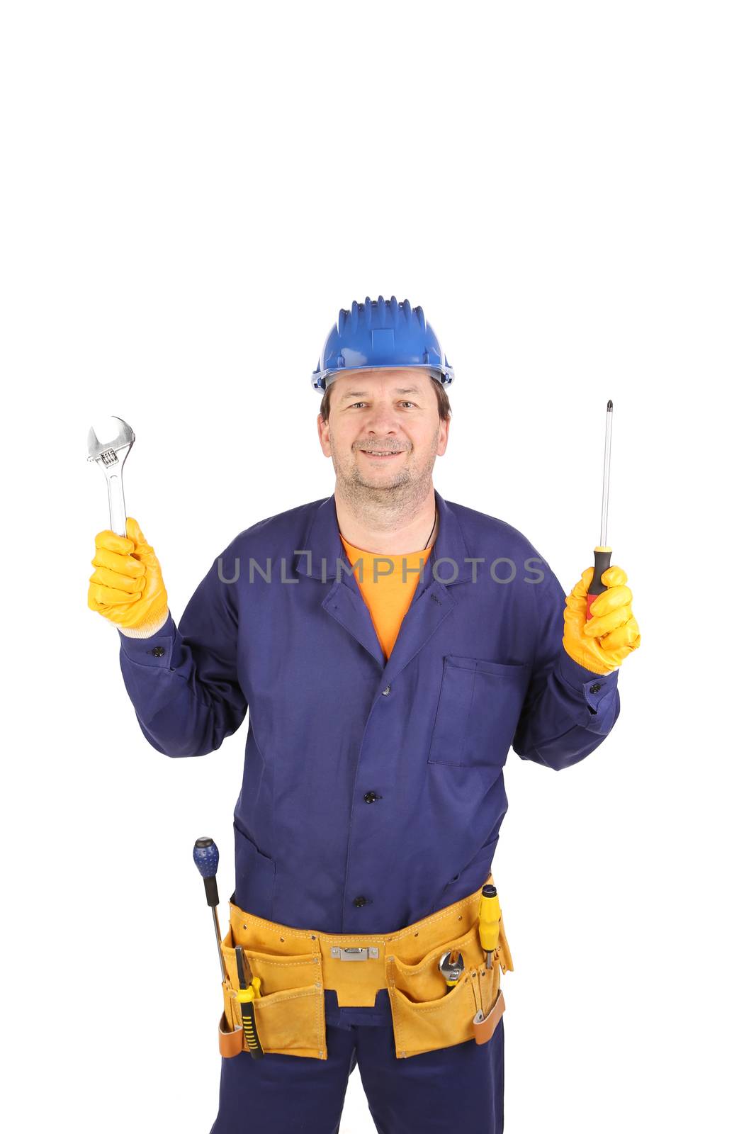
[{"label": "dark blue work trousers below the yellow tool belt", "polygon": [[211,1134],[339,1134],[355,1067],[379,1134],[502,1134],[503,1021],[487,1043],[467,1040],[398,1059],[390,1022],[376,1026],[345,1017],[329,1023],[326,1016],[328,1059],[253,1059],[246,1051],[223,1059]]}]

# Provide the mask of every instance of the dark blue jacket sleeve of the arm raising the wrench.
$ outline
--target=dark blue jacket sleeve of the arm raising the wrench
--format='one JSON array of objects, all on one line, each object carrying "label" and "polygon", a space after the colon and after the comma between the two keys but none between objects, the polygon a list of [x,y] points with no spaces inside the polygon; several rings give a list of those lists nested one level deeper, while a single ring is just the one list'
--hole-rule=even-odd
[{"label": "dark blue jacket sleeve of the arm raising the wrench", "polygon": [[202,756],[236,733],[247,711],[238,683],[237,589],[213,564],[178,627],[148,638],[120,634],[124,682],[142,731],[167,756]]}]

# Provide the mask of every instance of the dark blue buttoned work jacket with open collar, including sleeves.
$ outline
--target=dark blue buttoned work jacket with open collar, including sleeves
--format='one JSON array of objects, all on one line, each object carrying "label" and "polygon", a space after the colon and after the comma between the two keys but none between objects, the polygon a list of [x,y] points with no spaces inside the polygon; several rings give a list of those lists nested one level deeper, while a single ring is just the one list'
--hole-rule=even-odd
[{"label": "dark blue buttoned work jacket with open collar, including sleeves", "polygon": [[178,627],[120,635],[159,752],[212,752],[249,709],[232,900],[260,917],[385,933],[467,896],[491,869],[510,745],[566,768],[618,717],[617,672],[562,646],[564,592],[545,560],[509,524],[435,500],[388,662],[333,496],[238,535]]}]

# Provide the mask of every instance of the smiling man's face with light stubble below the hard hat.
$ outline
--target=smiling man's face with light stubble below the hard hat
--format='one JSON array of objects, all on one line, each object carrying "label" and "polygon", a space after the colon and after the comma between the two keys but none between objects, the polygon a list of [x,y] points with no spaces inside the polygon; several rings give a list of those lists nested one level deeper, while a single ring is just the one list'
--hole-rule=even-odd
[{"label": "smiling man's face with light stubble below the hard hat", "polygon": [[333,460],[337,481],[400,493],[430,479],[449,435],[434,381],[424,370],[406,367],[346,371],[337,378],[329,420],[317,417],[321,448]]}]

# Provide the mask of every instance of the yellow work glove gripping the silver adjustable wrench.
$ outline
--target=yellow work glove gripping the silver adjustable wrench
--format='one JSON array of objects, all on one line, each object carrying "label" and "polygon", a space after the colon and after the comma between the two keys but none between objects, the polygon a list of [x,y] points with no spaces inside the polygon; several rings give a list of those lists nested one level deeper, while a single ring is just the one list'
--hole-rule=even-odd
[{"label": "yellow work glove gripping the silver adjustable wrench", "polygon": [[90,610],[116,623],[128,637],[150,637],[168,618],[168,594],[142,528],[128,516],[126,536],[100,532],[94,547]]}]

